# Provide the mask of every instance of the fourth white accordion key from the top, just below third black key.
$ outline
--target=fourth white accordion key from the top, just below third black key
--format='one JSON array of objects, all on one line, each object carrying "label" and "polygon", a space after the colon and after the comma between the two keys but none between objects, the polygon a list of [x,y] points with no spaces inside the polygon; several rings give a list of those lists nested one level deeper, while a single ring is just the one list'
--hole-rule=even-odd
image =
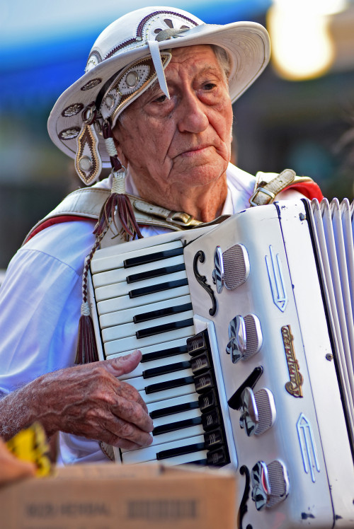
[{"label": "fourth white accordion key from the top, just below third black key", "polygon": [[156,303],[157,301],[164,301],[173,299],[178,296],[188,296],[189,286],[177,286],[176,289],[162,290],[153,294],[139,296],[138,298],[130,298],[129,296],[120,296],[118,298],[106,299],[97,303],[98,314],[108,314],[115,310],[122,310],[125,308],[134,308],[145,306],[149,303]]}]

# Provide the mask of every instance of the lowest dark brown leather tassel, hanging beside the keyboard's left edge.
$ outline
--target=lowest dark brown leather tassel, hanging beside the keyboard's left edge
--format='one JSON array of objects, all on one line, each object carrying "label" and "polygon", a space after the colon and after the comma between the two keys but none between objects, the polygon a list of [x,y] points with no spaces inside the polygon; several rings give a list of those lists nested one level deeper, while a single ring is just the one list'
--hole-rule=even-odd
[{"label": "lowest dark brown leather tassel, hanging beside the keyboard's left edge", "polygon": [[82,303],[81,306],[75,364],[89,364],[96,361],[98,361],[98,351],[95,332],[93,330],[89,303],[86,302]]}]

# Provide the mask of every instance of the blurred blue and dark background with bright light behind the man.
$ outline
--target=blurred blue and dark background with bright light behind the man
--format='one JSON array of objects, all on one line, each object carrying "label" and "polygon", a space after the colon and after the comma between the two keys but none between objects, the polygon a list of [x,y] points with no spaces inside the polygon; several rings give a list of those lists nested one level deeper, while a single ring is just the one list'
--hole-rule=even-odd
[{"label": "blurred blue and dark background with bright light behind the man", "polygon": [[[0,34],[0,269],[31,226],[80,187],[47,117],[84,74],[108,23],[132,0],[3,0]],[[309,175],[329,199],[354,196],[354,0],[185,0],[207,23],[268,28],[272,62],[234,105],[240,168]],[[0,279],[1,282],[1,279]]]}]

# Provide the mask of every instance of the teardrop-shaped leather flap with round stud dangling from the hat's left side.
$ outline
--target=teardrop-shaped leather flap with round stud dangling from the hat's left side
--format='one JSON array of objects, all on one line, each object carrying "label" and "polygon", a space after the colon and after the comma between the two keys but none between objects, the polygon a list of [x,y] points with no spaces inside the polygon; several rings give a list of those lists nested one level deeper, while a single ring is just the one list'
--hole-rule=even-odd
[{"label": "teardrop-shaped leather flap with round stud dangling from the hat's left side", "polygon": [[98,154],[98,137],[93,125],[84,123],[81,128],[77,138],[75,168],[86,185],[94,182],[101,173],[102,163]]}]

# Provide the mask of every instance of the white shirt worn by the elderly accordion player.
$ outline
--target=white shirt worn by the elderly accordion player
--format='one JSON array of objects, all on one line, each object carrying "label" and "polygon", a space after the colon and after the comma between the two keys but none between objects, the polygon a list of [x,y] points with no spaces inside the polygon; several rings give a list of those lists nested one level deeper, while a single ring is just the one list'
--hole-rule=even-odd
[{"label": "white shirt worn by the elderly accordion player", "polygon": [[[229,165],[222,214],[249,207],[256,178]],[[108,187],[103,180],[98,187]],[[127,192],[137,194],[127,180]],[[50,226],[13,257],[0,289],[0,397],[43,373],[74,366],[81,308],[81,274],[94,221]],[[149,237],[169,231],[143,227]],[[65,388],[63,388],[63,391]],[[58,464],[107,461],[97,441],[59,434]]]}]

